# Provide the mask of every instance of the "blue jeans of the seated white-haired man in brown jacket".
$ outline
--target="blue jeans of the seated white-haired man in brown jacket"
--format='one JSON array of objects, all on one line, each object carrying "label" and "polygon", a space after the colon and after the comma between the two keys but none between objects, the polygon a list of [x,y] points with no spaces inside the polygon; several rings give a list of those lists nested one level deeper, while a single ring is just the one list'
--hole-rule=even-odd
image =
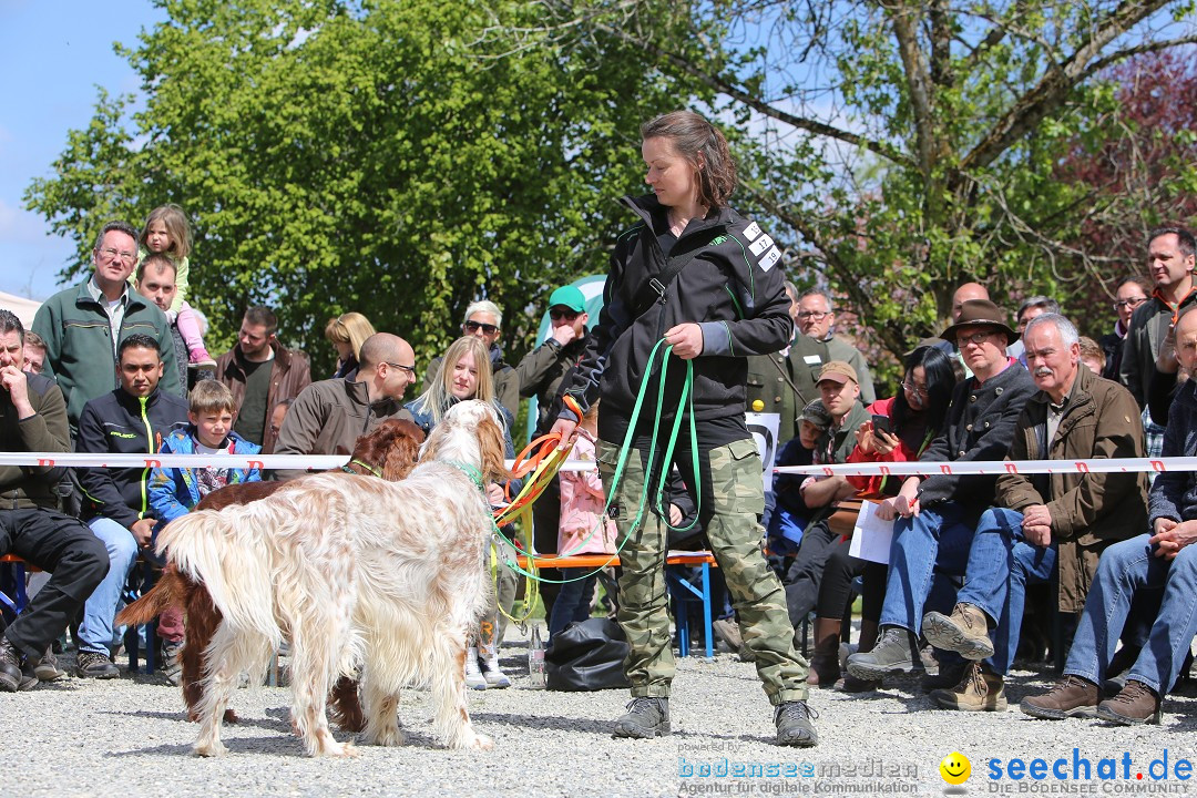
[{"label": "blue jeans of the seated white-haired man in brown jacket", "polygon": [[1032,546],[1022,536],[1022,513],[994,507],[977,525],[968,549],[965,586],[956,596],[985,610],[995,622],[989,636],[994,656],[986,664],[1002,676],[1010,670],[1022,632],[1027,583],[1043,583],[1056,572],[1056,547]]}]

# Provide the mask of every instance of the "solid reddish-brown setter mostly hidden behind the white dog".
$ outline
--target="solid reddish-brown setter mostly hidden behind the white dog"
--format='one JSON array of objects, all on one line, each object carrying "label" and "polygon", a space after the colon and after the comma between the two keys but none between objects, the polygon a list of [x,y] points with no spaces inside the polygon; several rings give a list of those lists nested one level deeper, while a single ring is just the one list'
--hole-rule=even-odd
[{"label": "solid reddish-brown setter mostly hidden behind the white dog", "polygon": [[[358,438],[346,471],[397,481],[415,468],[424,431],[406,419],[383,421],[367,434]],[[330,471],[340,474],[341,471]],[[233,505],[247,505],[273,494],[285,482],[239,482],[213,491],[203,497],[195,510],[223,510]],[[121,610],[116,622],[124,626],[148,623],[168,607],[182,607],[187,616],[186,638],[181,653],[183,698],[188,718],[199,720],[200,700],[203,698],[205,652],[212,642],[221,615],[212,603],[203,583],[181,574],[174,565],[168,565],[162,577],[145,596]],[[365,729],[365,718],[358,701],[358,686],[351,678],[336,683],[330,695],[333,720],[345,731]],[[237,715],[230,708],[224,719],[236,723]]]}]

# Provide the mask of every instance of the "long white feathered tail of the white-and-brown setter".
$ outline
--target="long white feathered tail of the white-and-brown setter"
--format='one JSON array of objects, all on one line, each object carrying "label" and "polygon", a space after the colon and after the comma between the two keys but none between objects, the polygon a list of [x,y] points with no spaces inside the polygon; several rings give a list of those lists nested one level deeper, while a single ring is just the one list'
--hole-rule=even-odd
[{"label": "long white feathered tail of the white-and-brown setter", "polygon": [[172,520],[158,535],[158,553],[203,583],[230,627],[260,634],[278,647],[282,632],[274,620],[269,555],[249,507],[200,510]]}]

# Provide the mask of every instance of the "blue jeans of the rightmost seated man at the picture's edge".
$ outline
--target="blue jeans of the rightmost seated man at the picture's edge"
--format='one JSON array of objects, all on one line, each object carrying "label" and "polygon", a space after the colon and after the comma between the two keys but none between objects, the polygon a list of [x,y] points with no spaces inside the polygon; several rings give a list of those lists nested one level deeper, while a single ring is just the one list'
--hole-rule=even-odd
[{"label": "blue jeans of the rightmost seated man at the picture's edge", "polygon": [[1149,540],[1150,535],[1140,535],[1101,553],[1065,674],[1100,684],[1135,591],[1162,586],[1160,614],[1128,678],[1147,684],[1161,696],[1172,689],[1197,634],[1197,546],[1180,549],[1169,562],[1155,556]]}]

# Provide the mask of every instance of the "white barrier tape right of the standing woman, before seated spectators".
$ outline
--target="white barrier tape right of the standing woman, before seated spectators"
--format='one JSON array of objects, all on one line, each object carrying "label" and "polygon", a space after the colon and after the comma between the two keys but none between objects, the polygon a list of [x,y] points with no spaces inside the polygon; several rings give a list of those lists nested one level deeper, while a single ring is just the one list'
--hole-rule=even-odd
[{"label": "white barrier tape right of the standing woman, before seated spectators", "polygon": [[999,476],[1002,474],[1131,474],[1197,471],[1197,457],[1119,457],[1105,459],[1020,459],[906,463],[840,463],[837,465],[778,465],[774,474],[815,476]]}]

